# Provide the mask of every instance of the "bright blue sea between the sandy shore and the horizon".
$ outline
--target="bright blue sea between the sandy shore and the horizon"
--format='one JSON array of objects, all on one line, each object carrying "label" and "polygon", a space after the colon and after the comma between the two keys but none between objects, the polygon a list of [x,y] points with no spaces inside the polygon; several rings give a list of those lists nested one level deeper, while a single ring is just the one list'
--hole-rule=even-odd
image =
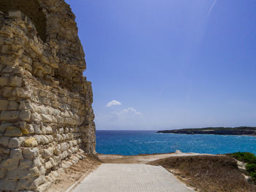
[{"label": "bright blue sea between the sandy shore and the horizon", "polygon": [[256,137],[211,134],[157,134],[156,131],[96,131],[97,153],[138,155],[144,153],[256,154]]}]

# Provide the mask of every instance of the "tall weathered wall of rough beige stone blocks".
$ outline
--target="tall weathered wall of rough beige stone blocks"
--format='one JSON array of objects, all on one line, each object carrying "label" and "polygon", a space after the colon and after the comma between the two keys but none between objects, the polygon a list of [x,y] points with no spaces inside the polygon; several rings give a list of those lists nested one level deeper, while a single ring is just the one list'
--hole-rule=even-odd
[{"label": "tall weathered wall of rough beige stone blocks", "polygon": [[95,153],[91,82],[63,0],[23,1],[45,19],[10,2],[0,2],[0,191],[45,191]]}]

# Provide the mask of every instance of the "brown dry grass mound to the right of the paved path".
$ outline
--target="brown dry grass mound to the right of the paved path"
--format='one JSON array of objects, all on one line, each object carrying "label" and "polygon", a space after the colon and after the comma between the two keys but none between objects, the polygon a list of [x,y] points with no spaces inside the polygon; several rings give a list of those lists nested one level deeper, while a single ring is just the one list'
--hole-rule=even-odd
[{"label": "brown dry grass mound to the right of the paved path", "polygon": [[238,170],[236,160],[225,155],[198,155],[162,158],[148,164],[161,165],[199,191],[256,191]]}]

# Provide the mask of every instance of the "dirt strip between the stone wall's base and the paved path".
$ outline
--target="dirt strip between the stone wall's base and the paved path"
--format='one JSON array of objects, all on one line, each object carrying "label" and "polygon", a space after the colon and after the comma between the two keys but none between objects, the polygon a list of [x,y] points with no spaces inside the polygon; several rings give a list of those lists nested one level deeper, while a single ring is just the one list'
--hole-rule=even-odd
[{"label": "dirt strip between the stone wall's base and the paved path", "polygon": [[97,156],[85,155],[83,160],[78,164],[70,166],[65,169],[65,173],[57,178],[55,183],[48,188],[47,192],[64,192],[67,191],[76,182],[82,181],[88,174],[97,169],[100,165]]}]

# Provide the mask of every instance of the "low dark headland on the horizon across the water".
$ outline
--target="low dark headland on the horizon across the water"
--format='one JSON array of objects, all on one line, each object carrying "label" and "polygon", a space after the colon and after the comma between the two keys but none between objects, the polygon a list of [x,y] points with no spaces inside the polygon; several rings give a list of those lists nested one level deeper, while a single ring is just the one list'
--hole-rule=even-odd
[{"label": "low dark headland on the horizon across the water", "polygon": [[256,127],[206,127],[206,128],[182,128],[157,131],[163,134],[225,134],[225,135],[256,135]]}]

